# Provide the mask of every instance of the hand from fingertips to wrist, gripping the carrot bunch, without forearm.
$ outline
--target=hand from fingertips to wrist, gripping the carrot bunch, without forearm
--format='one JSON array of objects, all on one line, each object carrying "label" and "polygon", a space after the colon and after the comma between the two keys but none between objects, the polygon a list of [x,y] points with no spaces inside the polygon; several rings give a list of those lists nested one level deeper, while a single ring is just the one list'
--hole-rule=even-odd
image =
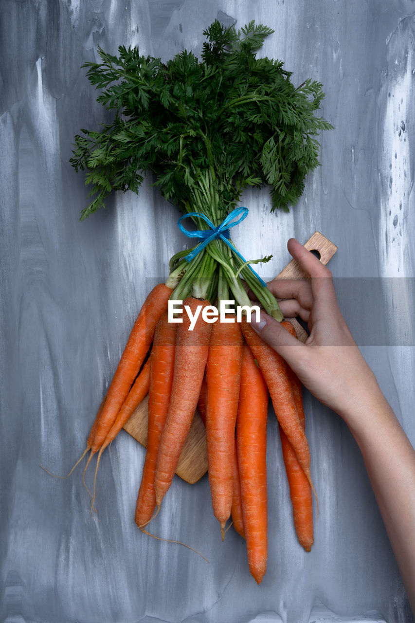
[{"label": "hand from fingertips to wrist, gripping the carrot bunch, without forearm", "polygon": [[378,383],[341,315],[330,270],[297,240],[290,239],[287,247],[311,280],[277,278],[267,286],[284,298],[280,308],[285,317],[300,316],[308,323],[310,336],[305,344],[295,340],[263,310],[260,323],[251,325],[313,396],[353,424],[356,407],[381,394]]}]

